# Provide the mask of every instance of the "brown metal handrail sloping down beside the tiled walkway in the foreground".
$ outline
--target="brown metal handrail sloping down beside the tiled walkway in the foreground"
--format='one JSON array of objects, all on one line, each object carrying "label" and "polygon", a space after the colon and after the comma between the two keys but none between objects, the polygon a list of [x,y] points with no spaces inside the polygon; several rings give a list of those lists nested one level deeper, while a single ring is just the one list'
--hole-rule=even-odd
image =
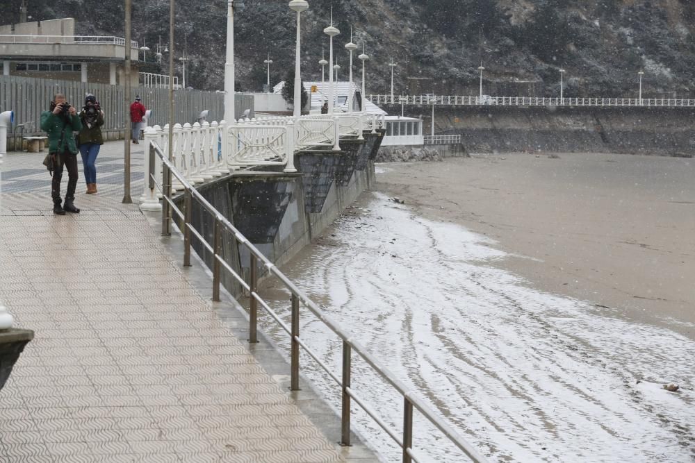
[{"label": "brown metal handrail sloping down beside the tiled walkway in the foreground", "polygon": [[[318,365],[328,373],[328,375],[341,387],[342,389],[342,413],[341,413],[341,445],[350,446],[350,403],[354,399],[355,403],[359,405],[374,421],[386,431],[389,436],[402,448],[402,462],[411,463],[417,462],[416,453],[413,446],[413,410],[417,409],[420,411],[425,418],[427,418],[430,423],[432,423],[437,429],[439,429],[445,437],[447,437],[452,444],[457,446],[464,454],[466,454],[473,462],[486,462],[487,460],[480,455],[477,450],[459,435],[459,433],[452,428],[448,423],[443,421],[443,419],[436,416],[432,409],[418,396],[415,392],[411,391],[407,385],[398,380],[389,369],[384,367],[382,362],[380,362],[375,356],[371,355],[367,349],[352,338],[350,332],[347,332],[343,327],[338,325],[327,314],[322,312],[322,310],[311,301],[309,296],[306,296],[301,289],[297,288],[294,283],[292,283],[289,278],[287,278],[284,273],[282,273],[268,258],[261,253],[256,246],[254,246],[244,235],[237,230],[231,222],[224,217],[218,210],[216,210],[211,203],[209,203],[202,194],[197,192],[193,185],[190,185],[186,178],[183,177],[177,171],[176,167],[172,165],[172,162],[166,158],[162,149],[154,141],[149,144],[149,165],[154,172],[155,158],[158,156],[162,163],[162,183],[158,183],[154,174],[149,176],[149,188],[154,193],[154,188],[162,193],[163,207],[162,207],[162,235],[171,235],[171,221],[172,212],[175,212],[183,220],[183,265],[190,267],[190,248],[191,248],[191,233],[197,239],[199,239],[202,244],[213,253],[213,301],[220,301],[220,285],[221,285],[221,273],[222,268],[227,269],[231,275],[241,284],[243,287],[247,288],[250,293],[250,326],[249,326],[249,342],[258,342],[257,336],[257,320],[258,320],[258,305],[260,304],[263,309],[265,309],[270,316],[275,319],[283,328],[291,335],[291,375],[290,375],[290,389],[297,391],[299,387],[300,378],[300,347],[304,348],[306,353],[315,360]],[[171,199],[171,184],[172,176],[177,178],[177,180],[183,185],[184,194],[184,206],[183,211],[179,210],[177,206]],[[193,200],[197,201],[199,205],[202,205],[204,210],[211,214],[215,218],[214,231],[213,231],[213,243],[209,244],[206,239],[202,236],[198,230],[195,230],[191,224],[192,217],[192,205]],[[221,251],[222,251],[222,232],[227,230],[234,237],[238,244],[242,244],[249,251],[250,259],[250,276],[249,282],[243,279],[234,269],[231,269],[227,262],[224,262]],[[286,289],[291,292],[291,326],[287,326],[284,321],[269,307],[263,298],[258,294],[258,264],[259,261],[268,271],[268,273],[275,275],[281,283],[284,284]],[[300,303],[303,303],[306,308],[309,309],[320,321],[322,321],[325,326],[330,328],[338,337],[343,340],[343,368],[342,368],[342,378],[330,371],[327,365],[319,359],[319,356],[314,353],[309,346],[307,346],[300,338]],[[404,419],[403,419],[403,430],[402,438],[398,437],[397,432],[395,432],[391,427],[389,427],[386,422],[379,417],[377,412],[373,410],[365,401],[363,401],[350,387],[350,373],[352,371],[352,351],[357,353],[362,359],[370,366],[372,369],[381,376],[386,382],[388,382],[393,388],[398,391],[403,397],[404,405]]]}]

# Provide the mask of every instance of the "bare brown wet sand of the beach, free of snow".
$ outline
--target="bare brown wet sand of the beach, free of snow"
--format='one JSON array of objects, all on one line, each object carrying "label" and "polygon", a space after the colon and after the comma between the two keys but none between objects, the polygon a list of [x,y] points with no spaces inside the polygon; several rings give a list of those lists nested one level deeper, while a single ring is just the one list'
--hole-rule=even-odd
[{"label": "bare brown wet sand of the beach, free of snow", "polygon": [[498,242],[544,292],[695,339],[695,160],[479,155],[384,164],[377,190]]}]

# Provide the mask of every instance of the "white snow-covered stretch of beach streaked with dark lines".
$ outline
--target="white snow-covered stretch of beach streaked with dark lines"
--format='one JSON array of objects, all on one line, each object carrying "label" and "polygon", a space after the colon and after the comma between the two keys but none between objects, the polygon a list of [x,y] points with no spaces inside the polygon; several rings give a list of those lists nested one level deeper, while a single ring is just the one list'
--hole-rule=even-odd
[{"label": "white snow-covered stretch of beach streaked with dark lines", "polygon": [[[380,194],[368,208],[338,223],[340,245],[316,246],[288,273],[481,453],[693,461],[695,342],[531,289],[488,266],[505,253],[461,226],[425,220]],[[321,323],[304,315],[302,337],[340,371],[341,345]],[[338,407],[336,386],[302,364]],[[353,374],[358,394],[400,432],[402,398],[357,360]],[[667,382],[680,392],[662,389]],[[386,460],[398,460],[373,421],[355,421]],[[465,461],[424,421],[416,414],[423,453]]]}]

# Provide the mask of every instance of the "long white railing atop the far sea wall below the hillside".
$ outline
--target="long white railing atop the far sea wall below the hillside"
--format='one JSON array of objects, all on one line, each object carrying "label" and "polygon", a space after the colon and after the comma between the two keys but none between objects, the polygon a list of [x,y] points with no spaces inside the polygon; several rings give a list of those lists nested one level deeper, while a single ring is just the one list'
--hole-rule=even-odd
[{"label": "long white railing atop the far sea wall below the hillside", "polygon": [[367,95],[372,103],[416,106],[598,106],[605,108],[695,108],[692,99],[531,98],[523,96]]}]

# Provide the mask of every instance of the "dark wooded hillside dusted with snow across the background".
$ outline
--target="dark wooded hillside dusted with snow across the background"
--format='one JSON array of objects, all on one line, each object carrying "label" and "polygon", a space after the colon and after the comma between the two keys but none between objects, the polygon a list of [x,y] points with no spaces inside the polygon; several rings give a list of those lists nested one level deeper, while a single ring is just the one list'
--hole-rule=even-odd
[{"label": "dark wooded hillside dusted with snow across the background", "polygon": [[[20,0],[6,0],[0,14],[17,22]],[[78,33],[123,35],[122,1],[31,0],[33,19],[75,17]],[[133,2],[133,39],[152,48],[168,41],[165,0]],[[393,58],[396,92],[475,94],[480,63],[485,93],[514,96],[634,96],[644,69],[645,96],[695,97],[695,2],[692,0],[334,0],[309,1],[303,14],[305,78],[320,79],[334,4],[338,62],[347,71],[343,45],[366,43],[368,92],[386,92]],[[222,87],[226,4],[177,2],[177,47],[191,61],[188,81]],[[236,13],[237,76],[244,90],[260,90],[263,60],[275,61],[273,81],[293,67],[294,16],[286,1],[245,0]],[[178,56],[177,56],[178,57]],[[149,56],[152,60],[152,53]],[[165,57],[166,58],[166,57]],[[152,71],[165,67],[150,65]],[[281,71],[280,71],[281,70]],[[357,71],[357,65],[355,66]]]}]

